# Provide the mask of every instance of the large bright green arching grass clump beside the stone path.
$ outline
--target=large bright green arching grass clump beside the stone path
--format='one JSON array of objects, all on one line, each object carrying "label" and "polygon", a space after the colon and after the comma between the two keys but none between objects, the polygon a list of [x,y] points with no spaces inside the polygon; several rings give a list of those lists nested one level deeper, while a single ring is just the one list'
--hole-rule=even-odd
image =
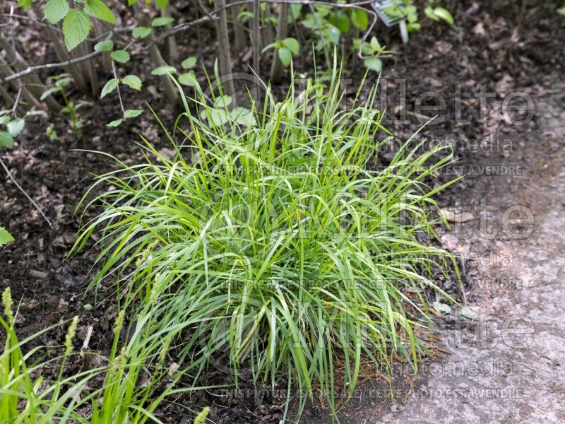
[{"label": "large bright green arching grass clump beside the stone path", "polygon": [[139,307],[155,302],[164,331],[198,322],[172,335],[195,381],[210,365],[236,384],[287,379],[300,411],[320,391],[335,416],[337,389],[353,393],[362,360],[388,368],[393,351],[417,369],[424,345],[415,329],[430,324],[425,291],[448,298],[432,269],[447,275],[455,264],[419,242],[435,235],[432,196],[446,187],[431,189],[427,179],[451,151],[418,153],[408,140],[374,170],[390,137],[376,87],[344,109],[335,69],[333,77],[300,93],[291,84],[280,102],[266,87],[260,112],[230,109],[221,87],[190,105],[183,97],[179,132],[161,124],[176,156],[142,136],[147,163],[114,158],[119,169],[90,190],[107,191],[86,204],[104,209],[83,225],[75,249],[100,231],[102,270],[91,288],[113,281]]}]

